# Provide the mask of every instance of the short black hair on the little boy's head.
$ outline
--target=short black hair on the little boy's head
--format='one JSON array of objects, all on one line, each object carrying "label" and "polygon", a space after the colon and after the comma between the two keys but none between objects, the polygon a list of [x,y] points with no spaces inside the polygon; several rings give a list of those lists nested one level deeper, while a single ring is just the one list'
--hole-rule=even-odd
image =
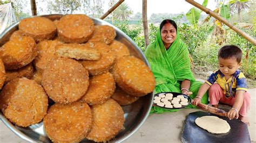
[{"label": "short black hair on the little boy's head", "polygon": [[237,60],[238,63],[241,62],[242,59],[242,51],[239,47],[235,45],[226,45],[220,48],[218,53],[218,59],[234,59]]}]

